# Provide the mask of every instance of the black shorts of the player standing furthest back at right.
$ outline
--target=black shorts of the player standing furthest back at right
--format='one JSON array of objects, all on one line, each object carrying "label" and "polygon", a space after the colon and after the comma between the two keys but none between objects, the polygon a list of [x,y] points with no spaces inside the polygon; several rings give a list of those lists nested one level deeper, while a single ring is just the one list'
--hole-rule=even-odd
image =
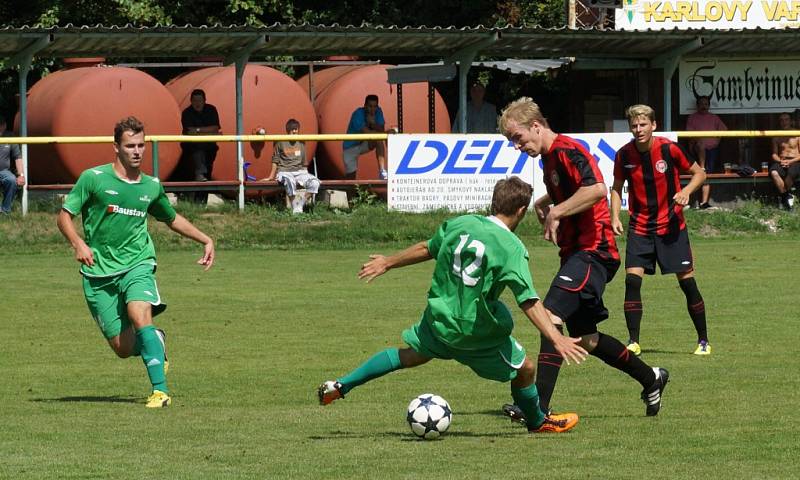
[{"label": "black shorts of the player standing furthest back at right", "polygon": [[656,261],[662,275],[688,272],[694,268],[689,233],[685,228],[667,235],[639,235],[628,230],[625,268],[644,268],[644,273],[653,275]]}]

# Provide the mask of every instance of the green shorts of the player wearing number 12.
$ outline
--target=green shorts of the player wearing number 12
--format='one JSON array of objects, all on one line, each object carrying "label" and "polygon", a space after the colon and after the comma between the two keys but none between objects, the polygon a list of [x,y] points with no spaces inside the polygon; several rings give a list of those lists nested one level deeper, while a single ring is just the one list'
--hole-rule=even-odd
[{"label": "green shorts of the player wearing number 12", "polygon": [[403,331],[403,341],[414,351],[431,358],[455,360],[468,366],[480,377],[508,382],[517,376],[525,361],[525,349],[512,336],[500,345],[482,350],[460,350],[442,343],[423,318]]}]

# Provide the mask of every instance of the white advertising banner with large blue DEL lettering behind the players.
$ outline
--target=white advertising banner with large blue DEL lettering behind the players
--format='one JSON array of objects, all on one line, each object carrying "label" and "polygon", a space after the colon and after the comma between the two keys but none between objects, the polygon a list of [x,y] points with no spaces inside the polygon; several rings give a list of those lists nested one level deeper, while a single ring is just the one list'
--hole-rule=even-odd
[{"label": "white advertising banner with large blue DEL lettering behind the players", "polygon": [[[630,133],[568,134],[597,159],[603,179],[614,183],[614,156]],[[677,140],[674,132],[657,135]],[[502,135],[390,135],[388,206],[424,212],[446,208],[479,211],[491,204],[494,184],[518,176],[533,185],[533,198],[546,192],[540,158],[514,149]],[[623,189],[627,208],[627,189]]]}]

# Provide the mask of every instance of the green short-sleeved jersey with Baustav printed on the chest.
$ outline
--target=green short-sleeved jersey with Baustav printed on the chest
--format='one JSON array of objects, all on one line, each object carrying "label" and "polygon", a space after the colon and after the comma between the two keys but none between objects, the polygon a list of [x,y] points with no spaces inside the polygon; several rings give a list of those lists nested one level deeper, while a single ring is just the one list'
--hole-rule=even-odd
[{"label": "green short-sleeved jersey with Baustav printed on the chest", "polygon": [[87,277],[119,275],[142,263],[155,265],[147,214],[166,223],[176,215],[158,178],[142,174],[138,182],[129,183],[110,163],[81,173],[63,208],[83,217],[84,239],[94,254],[93,266],[81,266]]}]

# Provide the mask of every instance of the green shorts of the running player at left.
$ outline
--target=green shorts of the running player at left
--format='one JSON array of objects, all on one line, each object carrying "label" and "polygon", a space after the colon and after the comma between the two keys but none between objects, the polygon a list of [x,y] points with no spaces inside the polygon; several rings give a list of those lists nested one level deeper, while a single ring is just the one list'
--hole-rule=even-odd
[{"label": "green shorts of the running player at left", "polygon": [[106,339],[118,336],[130,326],[129,302],[149,302],[153,305],[153,316],[166,310],[154,273],[155,265],[143,263],[114,277],[83,277],[86,305]]}]

